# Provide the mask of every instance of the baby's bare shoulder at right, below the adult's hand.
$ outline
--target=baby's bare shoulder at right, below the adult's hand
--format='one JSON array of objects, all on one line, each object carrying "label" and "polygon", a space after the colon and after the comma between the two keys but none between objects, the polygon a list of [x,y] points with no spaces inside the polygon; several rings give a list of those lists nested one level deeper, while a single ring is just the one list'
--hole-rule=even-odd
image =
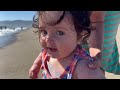
[{"label": "baby's bare shoulder at right, below the adult's hand", "polygon": [[77,62],[74,75],[78,79],[105,79],[105,75],[103,74],[100,68],[97,69],[89,69],[88,60],[81,60]]}]

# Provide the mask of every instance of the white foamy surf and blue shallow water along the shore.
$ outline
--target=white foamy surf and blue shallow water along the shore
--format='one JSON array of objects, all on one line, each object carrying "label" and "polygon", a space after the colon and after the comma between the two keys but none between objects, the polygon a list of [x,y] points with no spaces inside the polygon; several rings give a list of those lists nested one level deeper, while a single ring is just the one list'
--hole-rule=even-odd
[{"label": "white foamy surf and blue shallow water along the shore", "polygon": [[15,40],[15,37],[13,37],[16,33],[19,33],[27,28],[15,28],[15,29],[0,29],[0,48],[6,46],[13,40]]}]

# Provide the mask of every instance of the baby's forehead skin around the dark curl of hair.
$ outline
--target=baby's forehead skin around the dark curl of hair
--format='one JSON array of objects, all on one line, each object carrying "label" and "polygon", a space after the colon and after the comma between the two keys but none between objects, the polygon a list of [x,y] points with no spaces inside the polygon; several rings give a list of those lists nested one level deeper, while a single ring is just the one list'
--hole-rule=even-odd
[{"label": "baby's forehead skin around the dark curl of hair", "polygon": [[[59,14],[58,14],[59,13]],[[71,25],[74,25],[73,24],[73,19],[71,18],[71,15],[70,14],[65,14],[64,18],[62,19],[62,21],[56,25],[49,25],[49,24],[46,24],[45,22],[47,23],[50,23],[52,21],[57,21],[55,19],[57,19],[56,17],[60,17],[60,16],[55,16],[55,15],[60,15],[60,13],[62,13],[62,11],[58,12],[58,11],[46,11],[44,17],[39,17],[39,27],[55,27],[55,28],[61,28],[61,26],[71,26]],[[50,16],[49,16],[50,15]],[[62,14],[61,14],[62,15]]]}]

